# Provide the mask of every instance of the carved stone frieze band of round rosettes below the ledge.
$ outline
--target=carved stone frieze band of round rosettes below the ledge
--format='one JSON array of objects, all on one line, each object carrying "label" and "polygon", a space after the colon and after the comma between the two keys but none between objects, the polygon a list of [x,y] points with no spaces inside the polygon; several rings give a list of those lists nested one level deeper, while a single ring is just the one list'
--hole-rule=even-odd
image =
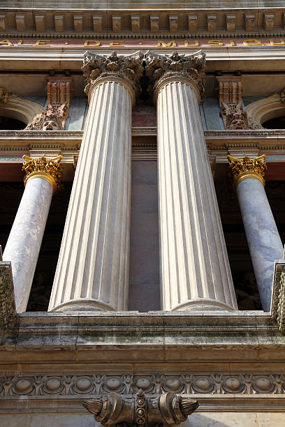
[{"label": "carved stone frieze band of round rosettes below the ledge", "polygon": [[181,373],[180,375],[131,375],[128,373],[93,373],[77,375],[3,375],[0,377],[0,397],[5,396],[98,396],[111,392],[131,397],[140,388],[147,396],[168,392],[181,396],[285,395],[285,375],[282,373]]}]

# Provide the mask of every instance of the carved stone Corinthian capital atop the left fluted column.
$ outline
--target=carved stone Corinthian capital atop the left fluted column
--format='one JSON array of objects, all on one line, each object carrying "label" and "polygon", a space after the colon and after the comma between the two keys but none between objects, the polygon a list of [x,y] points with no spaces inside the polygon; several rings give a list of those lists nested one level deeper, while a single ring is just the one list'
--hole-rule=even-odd
[{"label": "carved stone Corinthian capital atop the left fluted column", "polygon": [[85,93],[90,99],[92,89],[103,79],[117,80],[130,89],[134,101],[135,94],[138,96],[141,91],[138,82],[143,73],[142,61],[142,52],[118,57],[115,51],[110,55],[98,55],[87,50],[82,66],[86,77]]}]

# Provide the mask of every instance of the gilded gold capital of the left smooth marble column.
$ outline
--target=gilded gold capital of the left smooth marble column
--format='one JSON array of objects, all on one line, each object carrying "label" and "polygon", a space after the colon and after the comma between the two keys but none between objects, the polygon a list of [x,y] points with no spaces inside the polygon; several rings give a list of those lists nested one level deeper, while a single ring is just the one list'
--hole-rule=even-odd
[{"label": "gilded gold capital of the left smooth marble column", "polygon": [[25,172],[24,185],[27,185],[29,179],[43,178],[49,182],[54,190],[59,189],[59,178],[61,177],[61,168],[59,166],[62,156],[54,158],[31,158],[23,156],[24,165],[23,170]]}]

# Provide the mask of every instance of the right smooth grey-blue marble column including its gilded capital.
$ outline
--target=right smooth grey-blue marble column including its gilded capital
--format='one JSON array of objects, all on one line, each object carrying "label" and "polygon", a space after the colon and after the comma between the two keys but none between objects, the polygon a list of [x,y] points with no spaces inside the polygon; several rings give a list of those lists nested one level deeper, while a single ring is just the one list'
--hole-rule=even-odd
[{"label": "right smooth grey-blue marble column including its gilded capital", "polygon": [[282,260],[283,245],[264,190],[265,155],[228,156],[244,230],[264,311],[270,310],[275,260]]}]

